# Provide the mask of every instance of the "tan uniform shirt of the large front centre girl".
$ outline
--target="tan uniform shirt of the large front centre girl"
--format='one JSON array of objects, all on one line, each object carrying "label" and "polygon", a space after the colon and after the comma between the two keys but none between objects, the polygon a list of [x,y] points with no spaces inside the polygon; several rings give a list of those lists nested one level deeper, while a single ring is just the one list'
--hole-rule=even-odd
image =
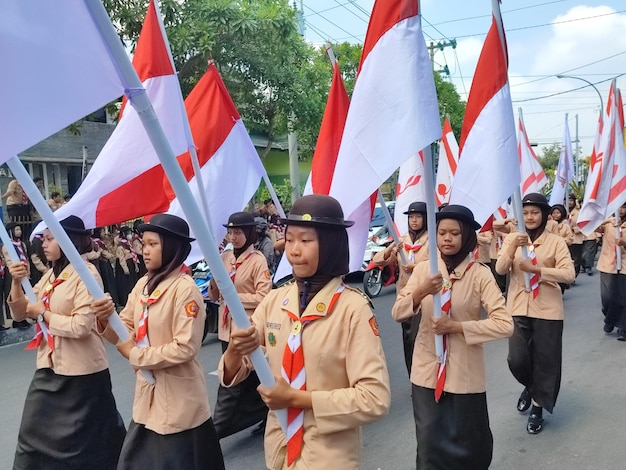
[{"label": "tan uniform shirt of the large front centre girl", "polygon": [[[330,281],[303,313],[322,318],[306,325],[302,332],[306,388],[312,391],[313,409],[304,411],[302,454],[289,470],[358,469],[360,426],[385,416],[389,410],[389,375],[368,300],[346,287],[334,309],[327,311],[340,284],[340,278]],[[291,283],[270,292],[253,315],[275,376],[281,375],[292,328],[286,311],[297,315],[298,305],[298,288]],[[224,385],[238,383],[249,372],[246,358],[233,382]],[[218,373],[223,382],[223,360]],[[267,468],[287,468],[286,446],[285,434],[270,411],[265,431]]]}]

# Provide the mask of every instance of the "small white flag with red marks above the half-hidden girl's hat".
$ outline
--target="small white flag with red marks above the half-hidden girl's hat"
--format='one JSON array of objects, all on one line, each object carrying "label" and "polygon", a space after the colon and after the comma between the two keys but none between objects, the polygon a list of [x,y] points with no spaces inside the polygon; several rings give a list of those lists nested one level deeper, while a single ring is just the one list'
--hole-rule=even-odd
[{"label": "small white flag with red marks above the half-hidden girl's hat", "polygon": [[412,202],[427,200],[425,186],[424,153],[420,150],[417,155],[404,162],[398,172],[393,218],[399,235],[406,235],[409,231],[408,215],[404,213],[409,209],[409,205]]}]

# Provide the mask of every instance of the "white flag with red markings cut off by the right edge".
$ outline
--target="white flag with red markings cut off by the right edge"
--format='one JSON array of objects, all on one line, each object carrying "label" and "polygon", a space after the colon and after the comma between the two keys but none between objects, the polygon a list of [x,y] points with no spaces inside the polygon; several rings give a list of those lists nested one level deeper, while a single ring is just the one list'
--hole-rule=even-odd
[{"label": "white flag with red markings cut off by the right edge", "polygon": [[611,84],[606,122],[599,120],[600,139],[594,144],[578,227],[589,235],[626,201],[626,150],[621,94]]}]

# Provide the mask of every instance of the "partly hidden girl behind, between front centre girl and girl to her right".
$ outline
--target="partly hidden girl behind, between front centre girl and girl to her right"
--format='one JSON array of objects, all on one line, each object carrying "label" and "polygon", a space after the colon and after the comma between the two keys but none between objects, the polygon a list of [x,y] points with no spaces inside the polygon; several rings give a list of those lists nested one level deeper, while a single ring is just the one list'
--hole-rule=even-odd
[{"label": "partly hidden girl behind, between front centre girl and girl to her right", "polygon": [[[399,244],[392,243],[374,256],[374,263],[378,266],[391,264],[399,271],[396,292],[406,286],[413,268],[421,261],[428,259],[428,225],[426,224],[426,203],[412,202],[405,215],[408,216],[408,233],[399,240]],[[398,250],[404,252],[406,264],[402,264]],[[413,359],[413,345],[419,329],[420,316],[411,316],[400,323],[402,326],[402,344],[404,346],[404,363],[411,375],[411,361]]]}]

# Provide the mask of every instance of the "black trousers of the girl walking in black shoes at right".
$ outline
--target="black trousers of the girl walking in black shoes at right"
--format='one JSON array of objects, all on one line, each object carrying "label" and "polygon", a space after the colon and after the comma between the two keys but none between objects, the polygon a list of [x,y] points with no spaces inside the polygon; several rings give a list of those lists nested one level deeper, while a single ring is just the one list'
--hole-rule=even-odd
[{"label": "black trousers of the girl walking in black shoes at right", "polygon": [[550,413],[561,388],[563,320],[514,316],[509,338],[509,370]]}]

